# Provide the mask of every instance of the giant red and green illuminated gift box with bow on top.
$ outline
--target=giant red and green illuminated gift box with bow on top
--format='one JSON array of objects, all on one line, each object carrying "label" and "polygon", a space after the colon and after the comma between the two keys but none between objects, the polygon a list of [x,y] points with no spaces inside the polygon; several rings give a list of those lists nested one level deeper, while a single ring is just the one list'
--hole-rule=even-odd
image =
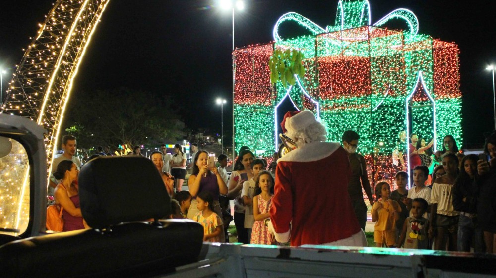
[{"label": "giant red and green illuminated gift box with bow on top", "polygon": [[[381,28],[389,19],[404,20],[404,32]],[[281,38],[283,23],[293,21],[309,35]],[[361,136],[363,154],[391,154],[398,133],[461,138],[458,47],[417,34],[416,16],[397,9],[371,24],[368,1],[339,1],[335,26],[323,29],[297,14],[283,15],[270,44],[234,51],[236,149],[242,145],[270,156],[279,142],[278,111],[283,101],[295,110],[310,109],[329,128],[328,140],[341,141],[345,130]],[[274,49],[303,52],[305,76],[285,88],[270,82],[268,62]],[[279,118],[278,118],[279,115]],[[406,147],[406,146],[405,146]]]}]

